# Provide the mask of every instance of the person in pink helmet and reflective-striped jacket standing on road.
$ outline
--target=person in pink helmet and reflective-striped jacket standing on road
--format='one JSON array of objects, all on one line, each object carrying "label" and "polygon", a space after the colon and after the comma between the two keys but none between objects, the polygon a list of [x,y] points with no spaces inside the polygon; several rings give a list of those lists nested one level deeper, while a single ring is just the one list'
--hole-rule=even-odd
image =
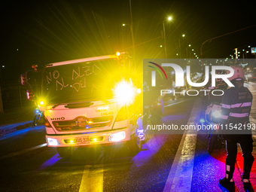
[{"label": "person in pink helmet and reflective-striped jacket standing on road", "polygon": [[233,172],[236,163],[237,143],[239,143],[242,149],[242,157],[244,158],[242,182],[245,189],[254,191],[249,181],[251,166],[254,162],[254,157],[251,154],[253,141],[249,124],[252,95],[248,88],[243,86],[245,72],[242,67],[231,67],[234,70],[234,75],[228,79],[235,87],[230,87],[224,91],[221,105],[221,120],[219,122],[220,129],[226,139],[226,175],[219,182],[223,187],[235,189]]}]

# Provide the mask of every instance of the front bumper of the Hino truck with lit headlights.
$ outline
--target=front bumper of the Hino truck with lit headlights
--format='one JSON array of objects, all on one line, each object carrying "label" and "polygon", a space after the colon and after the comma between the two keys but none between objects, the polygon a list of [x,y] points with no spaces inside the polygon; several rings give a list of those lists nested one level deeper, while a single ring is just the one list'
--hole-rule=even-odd
[{"label": "front bumper of the Hino truck with lit headlights", "polygon": [[69,135],[46,135],[48,147],[90,147],[93,145],[116,145],[130,140],[130,129],[108,130],[98,133]]}]

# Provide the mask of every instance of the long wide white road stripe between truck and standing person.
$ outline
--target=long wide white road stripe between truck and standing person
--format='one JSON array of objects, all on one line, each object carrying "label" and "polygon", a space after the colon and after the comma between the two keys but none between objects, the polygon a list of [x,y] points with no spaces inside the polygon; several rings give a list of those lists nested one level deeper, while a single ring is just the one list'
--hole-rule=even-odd
[{"label": "long wide white road stripe between truck and standing person", "polygon": [[[187,125],[195,125],[197,123],[200,109],[200,99],[197,99],[194,102]],[[185,130],[163,191],[190,191],[196,144],[197,130]]]}]

